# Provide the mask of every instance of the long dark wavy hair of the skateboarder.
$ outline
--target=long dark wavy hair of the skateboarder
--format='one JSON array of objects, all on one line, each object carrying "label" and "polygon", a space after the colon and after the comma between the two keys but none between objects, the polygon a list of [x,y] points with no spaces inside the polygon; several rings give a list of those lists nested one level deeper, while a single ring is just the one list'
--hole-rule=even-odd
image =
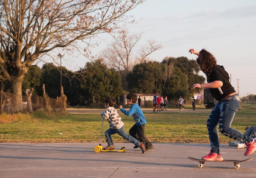
[{"label": "long dark wavy hair of the skateboarder", "polygon": [[196,59],[196,62],[200,66],[203,73],[205,73],[207,76],[211,74],[211,70],[213,69],[213,67],[217,67],[216,58],[205,49],[202,49],[200,51],[199,57]]}]

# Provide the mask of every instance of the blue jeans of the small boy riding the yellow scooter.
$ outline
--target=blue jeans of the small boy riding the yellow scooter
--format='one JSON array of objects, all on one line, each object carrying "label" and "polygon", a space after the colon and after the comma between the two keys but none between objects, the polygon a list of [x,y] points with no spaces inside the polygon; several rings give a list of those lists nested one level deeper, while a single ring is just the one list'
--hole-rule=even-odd
[{"label": "blue jeans of the small boy riding the yellow scooter", "polygon": [[119,136],[123,137],[124,140],[128,140],[132,142],[134,145],[139,147],[140,142],[127,134],[127,132],[124,130],[124,126],[121,129],[111,129],[109,128],[108,130],[105,131],[105,137],[106,137],[106,142],[108,143],[108,146],[114,145],[113,140],[111,138],[111,135],[113,134],[118,134]]}]

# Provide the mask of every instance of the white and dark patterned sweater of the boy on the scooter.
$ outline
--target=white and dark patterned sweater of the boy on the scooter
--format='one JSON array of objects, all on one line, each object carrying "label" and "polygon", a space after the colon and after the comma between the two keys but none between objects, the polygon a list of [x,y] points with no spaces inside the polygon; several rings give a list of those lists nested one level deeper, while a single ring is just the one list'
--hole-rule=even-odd
[{"label": "white and dark patterned sweater of the boy on the scooter", "polygon": [[101,116],[103,119],[108,119],[108,124],[111,129],[121,129],[124,126],[124,122],[115,107],[108,107],[101,113]]}]

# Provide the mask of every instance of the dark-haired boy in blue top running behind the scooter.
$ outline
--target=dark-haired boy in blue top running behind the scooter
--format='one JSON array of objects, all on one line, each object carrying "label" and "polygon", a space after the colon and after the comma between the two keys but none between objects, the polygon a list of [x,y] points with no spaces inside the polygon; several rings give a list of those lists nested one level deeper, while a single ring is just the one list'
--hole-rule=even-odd
[{"label": "dark-haired boy in blue top running behind the scooter", "polygon": [[[132,116],[132,118],[136,122],[135,125],[133,125],[129,130],[130,136],[136,138],[140,142],[143,142],[146,146],[146,151],[150,151],[154,149],[153,145],[148,141],[148,139],[145,136],[145,126],[147,121],[141,108],[136,104],[137,95],[135,93],[129,93],[126,96],[126,99],[127,99],[126,102],[128,103],[128,105],[131,105],[131,108],[129,109],[129,111],[126,111],[122,107],[122,105],[119,106],[119,109],[126,116]],[[138,147],[135,146],[133,148],[138,148]]]}]

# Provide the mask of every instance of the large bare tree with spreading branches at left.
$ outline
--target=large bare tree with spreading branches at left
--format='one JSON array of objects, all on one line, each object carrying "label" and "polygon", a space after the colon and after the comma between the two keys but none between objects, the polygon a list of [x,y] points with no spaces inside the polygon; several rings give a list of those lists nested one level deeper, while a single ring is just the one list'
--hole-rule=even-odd
[{"label": "large bare tree with spreading branches at left", "polygon": [[0,79],[11,84],[13,112],[22,110],[22,81],[39,56],[57,48],[88,47],[111,33],[142,0],[0,0]]}]

